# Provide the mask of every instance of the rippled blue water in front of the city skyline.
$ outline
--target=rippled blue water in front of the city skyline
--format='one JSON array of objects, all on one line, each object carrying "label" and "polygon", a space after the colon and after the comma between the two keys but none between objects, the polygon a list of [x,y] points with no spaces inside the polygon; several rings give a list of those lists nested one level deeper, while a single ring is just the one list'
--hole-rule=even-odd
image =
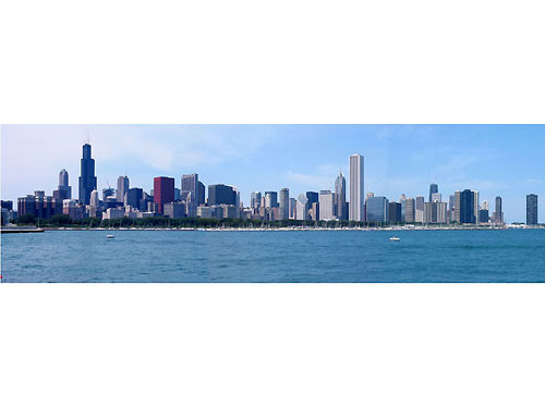
[{"label": "rippled blue water in front of the city skyline", "polygon": [[3,282],[545,282],[545,230],[107,234],[2,235]]}]

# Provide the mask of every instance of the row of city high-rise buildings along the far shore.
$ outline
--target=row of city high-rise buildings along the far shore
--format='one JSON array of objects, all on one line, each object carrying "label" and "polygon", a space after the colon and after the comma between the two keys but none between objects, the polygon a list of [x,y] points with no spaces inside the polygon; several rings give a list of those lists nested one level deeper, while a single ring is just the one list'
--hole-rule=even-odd
[{"label": "row of city high-rise buildings along the far shore", "polygon": [[[241,193],[237,187],[226,184],[205,185],[198,174],[183,174],[180,188],[175,178],[157,176],[154,188],[146,193],[143,188],[132,187],[126,175],[119,176],[117,188],[104,188],[102,199],[97,188],[95,160],[92,147],[83,146],[81,173],[78,180],[78,199],[72,199],[69,173],[61,170],[59,186],[52,196],[44,191],[19,198],[17,213],[22,217],[51,218],[66,214],[72,219],[86,217],[102,219],[147,218],[216,218],[216,219],[255,219],[263,221],[350,221],[383,224],[504,224],[501,197],[495,198],[495,210],[491,214],[488,201],[480,202],[476,190],[457,190],[444,200],[437,183],[429,185],[427,201],[424,196],[407,197],[401,195],[398,201],[390,201],[385,196],[365,193],[364,157],[349,157],[349,191],[342,172],[332,182],[331,189],[304,191],[290,197],[288,187],[279,191],[253,191],[250,206],[241,202]],[[2,221],[13,219],[15,211],[11,201],[2,201]],[[526,224],[537,224],[537,196],[526,197]]]}]

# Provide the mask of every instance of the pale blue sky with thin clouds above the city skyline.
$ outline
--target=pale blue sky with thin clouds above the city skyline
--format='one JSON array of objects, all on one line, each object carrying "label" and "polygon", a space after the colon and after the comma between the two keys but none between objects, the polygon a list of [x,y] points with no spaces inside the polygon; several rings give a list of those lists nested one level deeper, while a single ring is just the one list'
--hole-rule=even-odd
[{"label": "pale blue sky with thin clouds above the city skyline", "polygon": [[397,200],[427,197],[436,181],[504,197],[508,221],[525,220],[525,195],[540,195],[545,221],[544,125],[2,125],[2,199],[51,194],[65,168],[77,194],[84,135],[89,134],[99,188],[125,174],[149,190],[153,177],[196,172],[206,185],[253,190],[332,189],[348,157],[365,157],[365,190]]}]

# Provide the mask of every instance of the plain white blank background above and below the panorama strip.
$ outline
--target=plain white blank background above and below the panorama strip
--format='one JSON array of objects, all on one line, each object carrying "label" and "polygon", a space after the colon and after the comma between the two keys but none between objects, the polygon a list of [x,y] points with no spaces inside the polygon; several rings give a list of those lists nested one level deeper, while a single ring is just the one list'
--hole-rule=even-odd
[{"label": "plain white blank background above and below the panorama strip", "polygon": [[[2,1],[0,122],[543,123],[541,4]],[[0,405],[543,407],[544,295],[2,285]]]}]

